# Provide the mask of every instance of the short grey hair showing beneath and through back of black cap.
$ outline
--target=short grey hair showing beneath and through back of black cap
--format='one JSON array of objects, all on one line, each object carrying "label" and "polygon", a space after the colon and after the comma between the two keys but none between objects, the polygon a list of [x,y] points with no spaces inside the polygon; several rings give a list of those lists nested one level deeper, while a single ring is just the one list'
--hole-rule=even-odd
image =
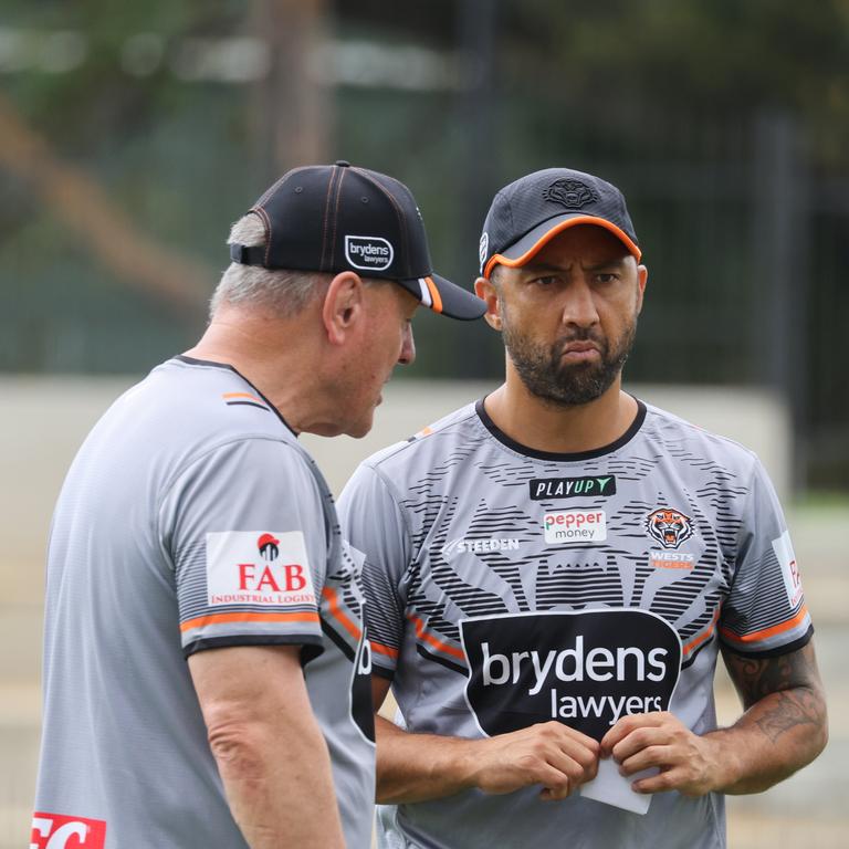
[{"label": "short grey hair showing beneath and through back of black cap", "polygon": [[[249,212],[231,228],[228,244],[249,248],[265,244],[265,227],[259,216]],[[317,271],[269,270],[261,265],[231,262],[212,294],[210,318],[223,304],[262,307],[282,318],[297,315],[333,277]]]}]

